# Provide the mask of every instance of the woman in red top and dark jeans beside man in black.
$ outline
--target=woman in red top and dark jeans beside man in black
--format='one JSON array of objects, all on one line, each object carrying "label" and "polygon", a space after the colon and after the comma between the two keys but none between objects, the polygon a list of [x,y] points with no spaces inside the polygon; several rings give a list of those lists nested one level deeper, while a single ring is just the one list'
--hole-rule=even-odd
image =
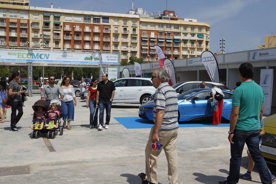
[{"label": "woman in red top and dark jeans beside man in black", "polygon": [[[90,109],[90,128],[97,128],[98,125],[98,109],[96,108],[96,93],[98,79],[93,78],[91,80],[92,85],[88,88],[88,94],[86,99],[86,108]],[[96,112],[95,112],[96,111]],[[95,114],[95,115],[94,115]]]}]

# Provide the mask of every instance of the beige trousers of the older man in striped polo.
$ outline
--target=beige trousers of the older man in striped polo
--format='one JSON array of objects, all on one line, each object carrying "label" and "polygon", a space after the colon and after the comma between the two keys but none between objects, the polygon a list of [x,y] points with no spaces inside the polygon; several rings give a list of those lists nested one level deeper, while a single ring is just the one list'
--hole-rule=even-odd
[{"label": "beige trousers of the older man in striped polo", "polygon": [[148,143],[145,149],[146,154],[146,175],[147,179],[150,176],[150,161],[151,161],[151,182],[158,184],[157,175],[157,159],[158,155],[161,153],[162,149],[165,151],[168,162],[168,179],[170,184],[178,183],[178,159],[176,151],[176,139],[178,134],[178,129],[170,131],[160,131],[158,132],[159,143],[161,149],[151,150],[151,136],[153,132],[153,127],[151,128],[150,135],[148,137]]}]

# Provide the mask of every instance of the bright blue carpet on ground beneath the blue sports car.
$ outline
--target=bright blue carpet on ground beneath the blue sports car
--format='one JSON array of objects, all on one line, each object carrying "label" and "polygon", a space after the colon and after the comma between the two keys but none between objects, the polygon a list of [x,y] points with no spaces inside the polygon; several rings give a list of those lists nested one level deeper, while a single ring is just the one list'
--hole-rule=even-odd
[{"label": "bright blue carpet on ground beneath the blue sports car", "polygon": [[[153,121],[145,120],[140,117],[114,117],[125,128],[151,128]],[[204,123],[204,121],[182,121],[179,127],[229,127],[229,123],[220,123],[220,126],[213,126],[212,123]]]}]

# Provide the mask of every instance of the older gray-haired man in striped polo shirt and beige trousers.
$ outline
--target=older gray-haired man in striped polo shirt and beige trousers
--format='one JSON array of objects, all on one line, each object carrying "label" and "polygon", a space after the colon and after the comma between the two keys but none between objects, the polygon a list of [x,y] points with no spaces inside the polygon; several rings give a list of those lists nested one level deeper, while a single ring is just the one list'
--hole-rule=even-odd
[{"label": "older gray-haired man in striped polo shirt and beige trousers", "polygon": [[[151,128],[149,140],[145,149],[146,175],[151,182],[158,184],[157,159],[164,149],[168,162],[168,179],[170,184],[178,183],[178,159],[176,151],[176,139],[178,134],[178,104],[177,94],[174,88],[168,84],[168,73],[165,68],[157,68],[153,71],[151,80],[156,88],[153,108],[154,126]],[[151,143],[161,144],[161,149],[151,150]]]}]

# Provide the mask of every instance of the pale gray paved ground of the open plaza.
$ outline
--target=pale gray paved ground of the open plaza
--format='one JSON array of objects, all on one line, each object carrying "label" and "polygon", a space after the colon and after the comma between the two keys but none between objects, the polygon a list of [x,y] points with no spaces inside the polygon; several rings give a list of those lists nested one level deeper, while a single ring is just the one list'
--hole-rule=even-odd
[{"label": "pale gray paved ground of the open plaza", "polygon": [[[10,131],[10,109],[6,122],[0,124],[0,183],[141,183],[137,174],[145,171],[144,149],[150,129],[127,129],[114,119],[137,117],[137,104],[113,104],[110,129],[98,131],[88,128],[89,109],[78,98],[71,130],[65,129],[55,139],[45,138],[46,134],[30,139],[32,105],[39,97],[34,95],[25,102],[19,132]],[[230,159],[228,129],[179,128],[179,183],[209,184],[225,180]],[[50,152],[46,144],[51,144],[55,151]],[[241,173],[247,171],[247,163],[244,149]],[[276,174],[275,166],[269,167]],[[159,183],[169,183],[164,152],[159,157],[158,171]],[[252,179],[260,183],[256,172],[254,168]],[[251,182],[240,180],[240,183]]]}]

